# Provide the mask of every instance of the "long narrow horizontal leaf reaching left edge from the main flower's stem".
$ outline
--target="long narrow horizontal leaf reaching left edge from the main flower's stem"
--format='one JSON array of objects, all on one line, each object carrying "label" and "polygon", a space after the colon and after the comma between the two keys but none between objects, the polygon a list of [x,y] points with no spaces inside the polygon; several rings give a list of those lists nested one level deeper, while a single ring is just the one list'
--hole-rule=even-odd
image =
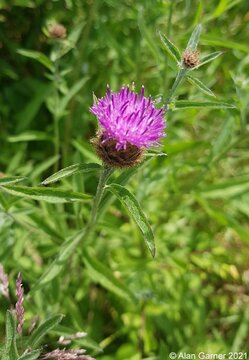
[{"label": "long narrow horizontal leaf reaching left edge from the main flower's stem", "polygon": [[91,198],[79,192],[59,190],[53,188],[35,188],[27,186],[1,186],[1,189],[11,195],[25,199],[41,200],[50,203],[64,203],[71,201],[84,201]]}]

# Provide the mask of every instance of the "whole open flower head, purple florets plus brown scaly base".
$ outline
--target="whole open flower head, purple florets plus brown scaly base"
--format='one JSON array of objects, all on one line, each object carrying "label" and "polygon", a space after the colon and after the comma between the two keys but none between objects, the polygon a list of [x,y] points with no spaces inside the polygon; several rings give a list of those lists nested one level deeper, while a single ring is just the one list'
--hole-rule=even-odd
[{"label": "whole open flower head, purple florets plus brown scaly base", "polygon": [[144,96],[144,87],[138,95],[129,86],[119,92],[112,92],[108,86],[106,95],[90,111],[100,124],[97,153],[111,166],[130,166],[133,160],[137,163],[144,150],[164,136],[166,109],[156,108],[151,97]]}]

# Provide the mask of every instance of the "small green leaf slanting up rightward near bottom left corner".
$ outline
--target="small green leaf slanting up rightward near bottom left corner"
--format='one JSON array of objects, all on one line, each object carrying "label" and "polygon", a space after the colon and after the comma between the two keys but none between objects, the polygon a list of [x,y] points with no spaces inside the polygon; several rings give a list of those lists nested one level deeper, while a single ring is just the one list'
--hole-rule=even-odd
[{"label": "small green leaf slanting up rightward near bottom left corner", "polygon": [[32,335],[30,336],[28,341],[28,346],[30,346],[32,349],[37,347],[37,345],[39,345],[43,337],[51,329],[53,329],[56,325],[58,325],[61,322],[62,318],[63,315],[58,314],[58,315],[53,315],[47,320],[45,320],[40,326],[38,326],[37,329],[34,330]]}]

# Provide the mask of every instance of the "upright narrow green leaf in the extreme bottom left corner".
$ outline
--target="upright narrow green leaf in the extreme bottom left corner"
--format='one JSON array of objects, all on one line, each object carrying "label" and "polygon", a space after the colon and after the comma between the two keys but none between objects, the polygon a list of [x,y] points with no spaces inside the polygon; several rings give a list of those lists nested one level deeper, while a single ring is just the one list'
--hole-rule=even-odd
[{"label": "upright narrow green leaf in the extreme bottom left corner", "polygon": [[8,310],[6,313],[6,339],[2,360],[16,360],[18,352],[16,347],[16,319],[14,314]]}]

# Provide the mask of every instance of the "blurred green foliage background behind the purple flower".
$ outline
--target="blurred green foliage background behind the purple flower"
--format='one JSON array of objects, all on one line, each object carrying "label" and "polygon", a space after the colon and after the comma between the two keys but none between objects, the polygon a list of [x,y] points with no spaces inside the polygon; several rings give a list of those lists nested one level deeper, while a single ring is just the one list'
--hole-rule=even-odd
[{"label": "blurred green foliage background behind the purple flower", "polygon": [[[168,156],[151,159],[128,186],[152,224],[156,258],[120,204],[109,204],[60,275],[26,298],[27,327],[35,315],[65,314],[49,348],[59,335],[84,330],[88,340],[75,346],[102,360],[249,350],[248,19],[243,0],[0,0],[0,170],[27,177],[27,185],[73,163],[99,162],[89,142],[97,125],[92,92],[100,97],[108,83],[118,90],[135,81],[138,91],[144,84],[147,95],[167,96],[176,70],[158,30],[184,50],[201,22],[201,53],[224,54],[195,76],[237,106],[168,112],[161,149]],[[42,64],[23,50],[58,54],[58,41],[46,35],[53,21],[69,35],[49,77],[47,58]],[[67,94],[56,119],[58,97]],[[187,82],[177,95],[207,101]],[[95,173],[58,184],[92,195],[96,185]],[[17,272],[28,294],[89,211],[88,202],[53,205],[1,194],[0,262],[13,299]],[[8,304],[0,301],[3,339]]]}]

